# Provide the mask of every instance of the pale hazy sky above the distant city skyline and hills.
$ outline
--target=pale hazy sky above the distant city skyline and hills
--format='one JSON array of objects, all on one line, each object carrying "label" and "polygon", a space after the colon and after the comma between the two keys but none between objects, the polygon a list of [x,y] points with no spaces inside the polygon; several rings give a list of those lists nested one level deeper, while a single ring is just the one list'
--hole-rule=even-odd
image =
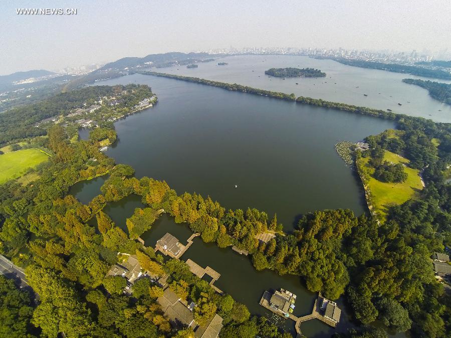
[{"label": "pale hazy sky above the distant city skyline and hills", "polygon": [[0,0],[1,75],[230,46],[451,50],[451,1]]}]

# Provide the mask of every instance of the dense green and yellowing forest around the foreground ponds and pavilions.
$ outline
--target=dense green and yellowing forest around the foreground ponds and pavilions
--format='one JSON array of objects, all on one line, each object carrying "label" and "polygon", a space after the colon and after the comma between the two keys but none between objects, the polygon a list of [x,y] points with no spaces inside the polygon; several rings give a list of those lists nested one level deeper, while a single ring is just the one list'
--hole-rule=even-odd
[{"label": "dense green and yellowing forest around the foreground ponds and pavilions", "polygon": [[[294,100],[245,86],[170,77]],[[330,299],[344,295],[361,326],[339,337],[386,337],[386,329],[410,330],[415,337],[448,336],[451,297],[434,278],[430,256],[451,245],[451,186],[444,174],[451,162],[451,125],[387,116],[396,120],[399,137],[387,132],[368,136],[370,148],[379,152],[373,157],[381,160],[385,149],[402,154],[410,166],[423,170],[426,187],[415,199],[390,207],[383,223],[355,217],[350,210],[313,211],[300,218],[293,233],[282,231],[277,215],[254,208],[227,210],[208,196],[179,194],[164,181],[135,178],[132,167],[98,150],[99,139],[115,137],[106,127],[90,140],[70,142],[67,128],[52,126],[43,142],[54,155],[37,168],[40,178],[24,186],[17,181],[0,186],[0,252],[26,268],[40,296],[36,306],[31,295],[0,279],[0,292],[8,295],[0,303],[2,328],[18,327],[29,337],[58,332],[67,337],[192,337],[190,329],[174,327],[162,315],[156,302],[162,289],[149,278],[135,282],[131,297],[122,293],[124,280],[105,277],[120,252],[135,254],[153,275],[166,274],[173,292],[197,304],[199,323],[221,315],[220,337],[289,337],[265,318],[251,316],[233,295],[215,293],[182,261],[164,261],[135,240],[164,210],[199,232],[204,242],[247,250],[257,270],[299,276],[309,290]],[[107,173],[101,194],[87,205],[68,195],[77,181]],[[130,195],[140,196],[146,208],[127,219],[127,235],[103,208]],[[262,231],[276,237],[259,243],[255,236]]]}]

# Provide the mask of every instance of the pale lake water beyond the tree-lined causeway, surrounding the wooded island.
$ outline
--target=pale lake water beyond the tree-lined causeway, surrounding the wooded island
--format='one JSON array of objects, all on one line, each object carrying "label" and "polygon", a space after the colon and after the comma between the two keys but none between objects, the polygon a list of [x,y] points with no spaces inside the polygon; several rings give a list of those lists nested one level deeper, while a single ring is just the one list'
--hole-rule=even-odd
[{"label": "pale lake water beyond the tree-lined causeway, surrounding the wooded island", "polygon": [[[229,64],[218,66],[218,62]],[[282,78],[265,75],[265,70],[285,67],[318,68],[327,76],[282,80]],[[290,55],[239,55],[198,63],[198,68],[187,69],[186,66],[178,66],[151,70],[238,83],[288,94],[295,93],[296,96],[302,95],[370,108],[383,110],[388,108],[397,113],[422,116],[439,122],[451,122],[451,106],[430,97],[426,89],[403,83],[401,80],[413,78],[443,83],[451,81],[352,67],[333,60]],[[296,85],[296,82],[299,84]]]}]

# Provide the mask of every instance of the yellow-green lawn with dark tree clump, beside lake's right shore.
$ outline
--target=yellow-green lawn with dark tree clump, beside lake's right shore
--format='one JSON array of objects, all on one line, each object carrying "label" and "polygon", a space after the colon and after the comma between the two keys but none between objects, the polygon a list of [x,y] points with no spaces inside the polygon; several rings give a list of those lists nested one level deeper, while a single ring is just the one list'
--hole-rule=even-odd
[{"label": "yellow-green lawn with dark tree clump, beside lake's right shore", "polygon": [[[368,166],[369,157],[361,159]],[[384,160],[392,163],[408,163],[409,160],[390,151],[385,151]],[[409,167],[405,167],[407,180],[404,183],[384,183],[371,177],[368,182],[368,188],[373,195],[373,207],[379,212],[383,220],[385,220],[387,207],[390,205],[402,204],[410,199],[416,192],[423,189],[419,171]],[[374,169],[370,168],[370,174],[374,173]],[[381,220],[381,221],[383,221]]]}]

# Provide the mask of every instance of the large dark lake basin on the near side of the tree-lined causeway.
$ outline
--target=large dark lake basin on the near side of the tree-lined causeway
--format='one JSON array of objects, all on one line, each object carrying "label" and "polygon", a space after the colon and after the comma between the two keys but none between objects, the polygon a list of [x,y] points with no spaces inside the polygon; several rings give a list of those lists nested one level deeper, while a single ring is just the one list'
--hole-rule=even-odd
[{"label": "large dark lake basin on the near side of the tree-lined causeway", "polygon": [[365,212],[361,183],[334,144],[392,121],[140,74],[102,84],[135,82],[150,85],[159,102],[117,121],[118,141],[106,154],[137,177],[210,195],[228,209],[277,213],[288,231],[309,211]]}]

